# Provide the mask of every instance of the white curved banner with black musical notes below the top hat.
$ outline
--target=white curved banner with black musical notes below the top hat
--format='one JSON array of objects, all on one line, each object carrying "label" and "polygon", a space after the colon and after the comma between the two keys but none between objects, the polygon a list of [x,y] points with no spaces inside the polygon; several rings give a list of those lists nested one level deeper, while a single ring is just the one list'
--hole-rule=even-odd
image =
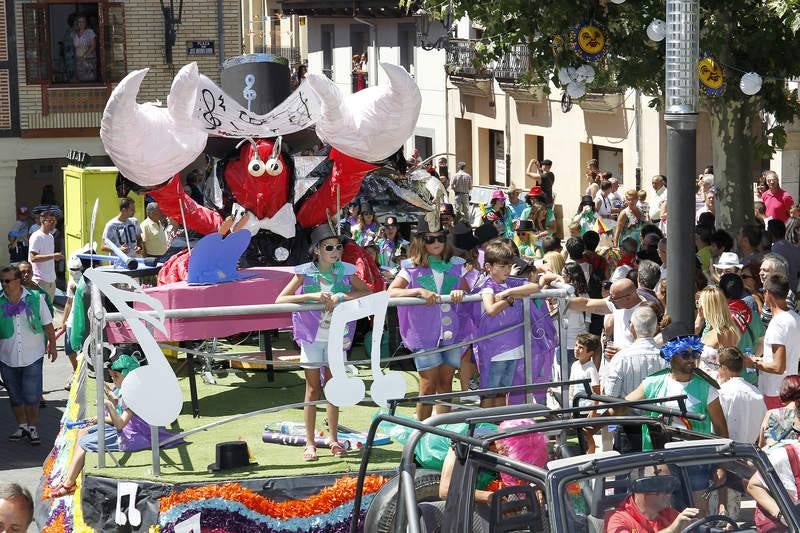
[{"label": "white curved banner with black musical notes below the top hat", "polygon": [[266,115],[240,106],[202,74],[196,98],[194,120],[208,134],[219,137],[277,137],[305,129],[320,118],[320,99],[305,81]]}]

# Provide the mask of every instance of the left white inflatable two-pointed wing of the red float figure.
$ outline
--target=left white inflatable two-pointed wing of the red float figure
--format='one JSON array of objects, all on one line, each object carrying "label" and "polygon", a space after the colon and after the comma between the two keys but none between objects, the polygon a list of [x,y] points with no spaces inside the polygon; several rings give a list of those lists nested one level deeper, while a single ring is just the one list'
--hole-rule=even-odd
[{"label": "left white inflatable two-pointed wing of the red float figure", "polygon": [[148,70],[131,72],[114,88],[100,123],[100,138],[114,165],[143,187],[160,185],[189,166],[208,139],[191,116],[200,76],[197,63],[178,71],[166,108],[136,103]]}]

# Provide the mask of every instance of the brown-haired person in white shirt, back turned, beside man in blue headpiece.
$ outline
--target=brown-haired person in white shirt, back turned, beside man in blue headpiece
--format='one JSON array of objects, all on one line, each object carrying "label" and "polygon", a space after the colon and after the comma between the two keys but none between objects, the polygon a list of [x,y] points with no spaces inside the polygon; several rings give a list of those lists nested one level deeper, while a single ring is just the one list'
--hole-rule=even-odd
[{"label": "brown-haired person in white shirt, back turned, beside man in blue headpiece", "polygon": [[719,401],[728,423],[728,436],[737,441],[753,444],[767,406],[764,396],[742,377],[744,355],[738,348],[722,348],[719,351]]}]

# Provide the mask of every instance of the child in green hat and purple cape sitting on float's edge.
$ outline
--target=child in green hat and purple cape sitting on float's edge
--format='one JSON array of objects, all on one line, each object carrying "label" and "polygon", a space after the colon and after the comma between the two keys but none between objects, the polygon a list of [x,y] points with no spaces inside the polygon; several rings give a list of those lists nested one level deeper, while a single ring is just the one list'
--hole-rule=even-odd
[{"label": "child in green hat and purple cape sitting on float's edge", "polygon": [[[125,377],[133,370],[139,368],[139,361],[130,355],[120,355],[111,363],[111,381],[114,387],[119,390]],[[133,411],[128,409],[122,398],[119,398],[114,389],[106,386],[106,427],[105,445],[110,452],[136,452],[146,450],[150,447],[150,426],[139,418]],[[94,420],[97,422],[97,420]],[[171,437],[172,433],[159,429],[159,441]],[[78,446],[72,456],[72,462],[67,468],[61,482],[53,487],[53,498],[60,498],[75,492],[75,481],[81,475],[83,465],[86,462],[86,452],[97,452],[98,449],[97,426],[83,428],[78,431]],[[183,441],[175,441],[170,446],[183,444]]]}]

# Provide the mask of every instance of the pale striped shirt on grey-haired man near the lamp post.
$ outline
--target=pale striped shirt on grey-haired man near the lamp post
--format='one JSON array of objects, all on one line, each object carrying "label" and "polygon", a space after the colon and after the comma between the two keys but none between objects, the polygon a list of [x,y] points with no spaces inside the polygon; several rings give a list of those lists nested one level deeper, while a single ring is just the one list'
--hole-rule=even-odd
[{"label": "pale striped shirt on grey-haired man near the lamp post", "polygon": [[666,361],[661,358],[661,349],[652,337],[636,339],[608,363],[602,382],[603,393],[624,398],[635,391],[644,378],[666,366]]}]

